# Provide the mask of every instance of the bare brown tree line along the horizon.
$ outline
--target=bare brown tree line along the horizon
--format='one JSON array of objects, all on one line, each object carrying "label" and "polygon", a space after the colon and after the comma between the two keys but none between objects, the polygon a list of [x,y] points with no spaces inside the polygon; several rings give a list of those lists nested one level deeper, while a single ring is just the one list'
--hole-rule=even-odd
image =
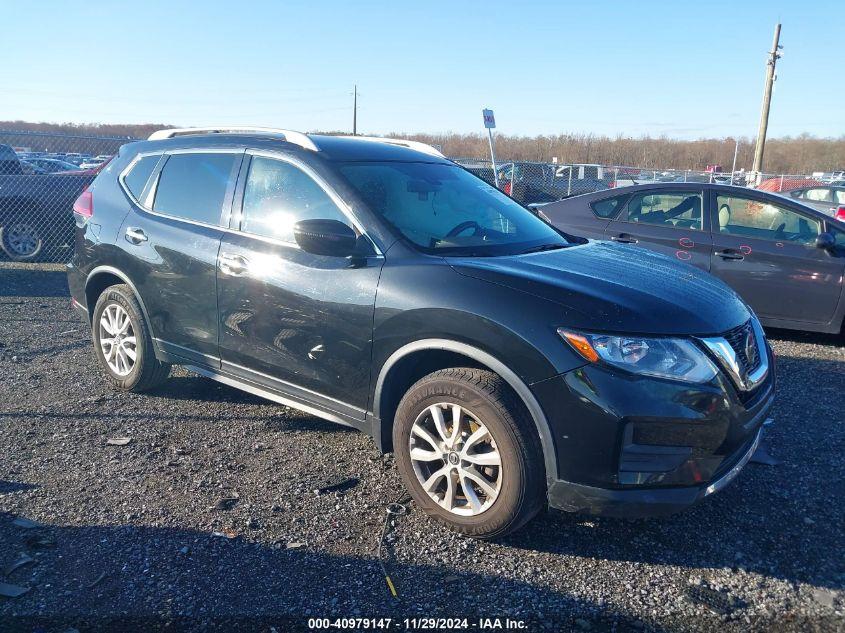
[{"label": "bare brown tree line along the horizon", "polygon": [[[76,124],[0,121],[0,130],[54,132],[96,136],[146,138],[155,130],[173,127],[163,123]],[[440,147],[454,158],[488,158],[486,134],[392,134]],[[754,139],[739,138],[737,168],[751,169]],[[595,134],[557,134],[540,136],[496,135],[496,155],[502,160],[550,162],[561,164],[598,163],[628,165],[650,169],[703,170],[707,165],[721,165],[729,170],[733,163],[733,138],[681,140],[652,136],[600,136]],[[813,171],[845,169],[845,135],[818,138],[808,134],[770,138],[766,142],[763,169],[777,174],[803,174]]]}]

